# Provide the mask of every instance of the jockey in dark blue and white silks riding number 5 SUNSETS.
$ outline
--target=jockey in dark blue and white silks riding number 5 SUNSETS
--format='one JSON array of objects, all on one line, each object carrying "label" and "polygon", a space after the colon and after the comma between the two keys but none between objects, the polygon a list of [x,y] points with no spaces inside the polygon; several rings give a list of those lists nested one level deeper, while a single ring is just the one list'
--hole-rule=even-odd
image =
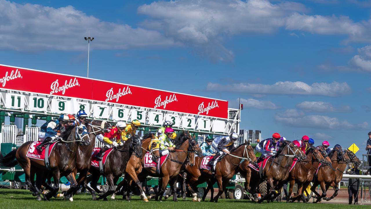
[{"label": "jockey in dark blue and white silks riding number 5 SUNSETS", "polygon": [[60,132],[65,130],[65,126],[71,126],[73,122],[75,122],[75,117],[73,115],[62,114],[59,116],[58,120],[49,120],[44,123],[39,131],[39,139],[43,142],[36,148],[42,151],[43,145],[60,136]]}]

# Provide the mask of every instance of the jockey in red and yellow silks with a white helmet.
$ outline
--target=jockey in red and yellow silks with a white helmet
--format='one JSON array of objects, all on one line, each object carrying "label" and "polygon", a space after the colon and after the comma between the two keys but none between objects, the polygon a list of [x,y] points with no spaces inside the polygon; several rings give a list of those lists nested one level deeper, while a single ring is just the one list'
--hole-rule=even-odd
[{"label": "jockey in red and yellow silks with a white helmet", "polygon": [[121,133],[125,129],[126,123],[124,121],[117,122],[116,126],[113,126],[111,131],[108,133],[104,133],[103,141],[105,144],[111,145],[110,147],[102,147],[99,150],[99,153],[95,155],[98,160],[102,160],[104,152],[107,151],[111,147],[117,147],[118,144],[121,143]]}]

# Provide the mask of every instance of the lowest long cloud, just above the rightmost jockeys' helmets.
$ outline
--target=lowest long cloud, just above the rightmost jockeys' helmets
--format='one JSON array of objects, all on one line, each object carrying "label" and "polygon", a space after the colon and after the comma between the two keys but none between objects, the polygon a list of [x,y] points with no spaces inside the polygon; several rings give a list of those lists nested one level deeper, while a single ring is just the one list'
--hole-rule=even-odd
[{"label": "lowest long cloud, just above the rightmost jockeys' helmets", "polygon": [[339,120],[322,115],[307,115],[307,116],[290,116],[286,114],[277,114],[275,116],[277,122],[287,126],[301,128],[317,128],[317,129],[367,129],[368,123],[351,124],[347,120]]}]

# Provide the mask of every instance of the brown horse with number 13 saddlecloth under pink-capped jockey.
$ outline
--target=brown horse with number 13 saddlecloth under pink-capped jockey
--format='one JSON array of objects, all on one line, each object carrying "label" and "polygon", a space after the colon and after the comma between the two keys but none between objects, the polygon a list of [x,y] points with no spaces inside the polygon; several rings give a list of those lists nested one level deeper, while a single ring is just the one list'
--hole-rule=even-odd
[{"label": "brown horse with number 13 saddlecloth under pink-capped jockey", "polygon": [[[173,200],[177,202],[177,195],[176,195],[176,180],[179,174],[181,166],[184,162],[189,158],[191,152],[196,152],[197,154],[202,154],[200,147],[197,144],[197,141],[194,138],[191,138],[189,131],[182,131],[179,136],[177,136],[176,141],[178,141],[178,146],[175,147],[175,151],[170,152],[167,156],[167,160],[164,164],[161,165],[160,174],[157,173],[157,169],[153,167],[143,167],[144,163],[141,162],[141,173],[137,174],[140,169],[137,169],[137,172],[133,172],[133,170],[128,170],[128,183],[130,183],[131,179],[134,181],[142,182],[147,176],[152,177],[160,177],[162,178],[161,184],[159,185],[158,193],[155,196],[156,200],[162,200],[162,196],[165,192],[166,186],[170,183],[171,189],[175,194],[173,196]],[[176,143],[174,143],[176,144]],[[180,144],[180,145],[179,145]],[[148,147],[147,147],[148,148]],[[144,160],[144,159],[143,159]],[[138,162],[138,160],[135,160]],[[143,169],[144,168],[144,169]],[[144,199],[146,198],[143,188],[140,187],[142,196]],[[130,186],[127,186],[127,194],[126,199],[130,199]],[[160,197],[160,198],[158,198]]]}]

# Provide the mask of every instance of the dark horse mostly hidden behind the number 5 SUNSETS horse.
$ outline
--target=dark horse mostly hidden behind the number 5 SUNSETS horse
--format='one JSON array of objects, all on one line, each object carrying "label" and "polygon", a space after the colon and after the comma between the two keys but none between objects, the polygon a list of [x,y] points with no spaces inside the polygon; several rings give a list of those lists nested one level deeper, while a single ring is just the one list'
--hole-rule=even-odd
[{"label": "dark horse mostly hidden behind the number 5 SUNSETS horse", "polygon": [[103,133],[103,129],[110,126],[109,123],[104,121],[88,120],[85,119],[85,127],[88,129],[89,137],[92,139],[88,146],[78,146],[76,153],[76,168],[72,172],[72,178],[75,178],[76,173],[79,173],[79,177],[76,180],[78,183],[77,187],[70,187],[64,194],[66,199],[72,198],[72,196],[79,190],[80,185],[84,186],[93,195],[93,199],[96,199],[94,191],[88,187],[86,177],[91,166],[91,155],[95,147],[95,137]]}]

